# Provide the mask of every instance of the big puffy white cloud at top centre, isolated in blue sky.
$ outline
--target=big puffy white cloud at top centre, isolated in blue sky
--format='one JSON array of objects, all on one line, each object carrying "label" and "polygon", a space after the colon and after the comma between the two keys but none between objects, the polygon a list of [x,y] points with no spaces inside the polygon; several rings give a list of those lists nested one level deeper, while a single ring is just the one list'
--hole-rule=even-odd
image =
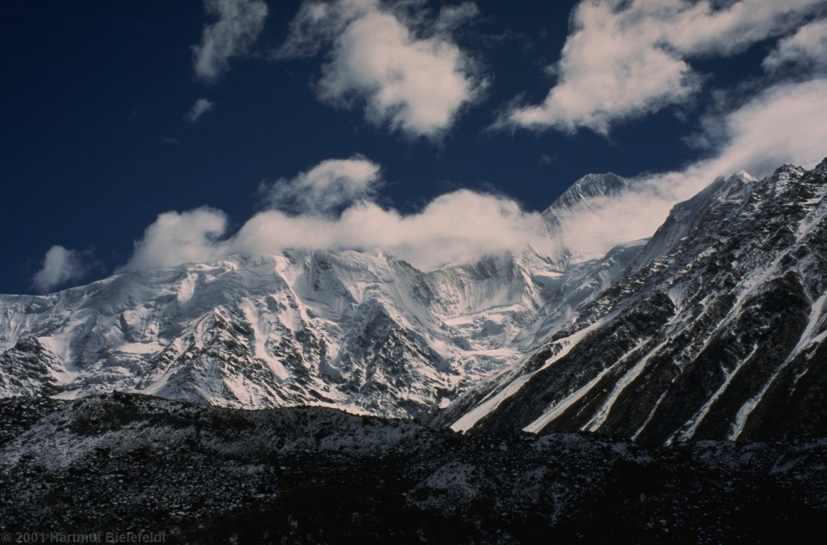
[{"label": "big puffy white cloud at top centre, isolated in blue sky", "polygon": [[[368,122],[409,136],[438,138],[484,82],[451,31],[476,14],[466,2],[443,8],[427,24],[422,2],[306,0],[278,56],[327,50],[316,84],[320,100],[338,108],[360,105]],[[405,8],[413,8],[414,14]]]}]

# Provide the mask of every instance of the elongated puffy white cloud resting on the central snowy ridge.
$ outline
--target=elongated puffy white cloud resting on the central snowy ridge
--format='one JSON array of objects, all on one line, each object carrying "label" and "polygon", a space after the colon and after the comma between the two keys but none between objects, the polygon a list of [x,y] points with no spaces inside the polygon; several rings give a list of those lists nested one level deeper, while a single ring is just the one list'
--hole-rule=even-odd
[{"label": "elongated puffy white cloud resting on the central snowy ridge", "polygon": [[548,253],[553,243],[538,213],[524,212],[508,198],[460,190],[409,215],[368,202],[347,208],[339,218],[260,213],[241,228],[231,246],[234,251],[253,254],[288,248],[384,248],[422,270],[431,270],[530,247]]}]

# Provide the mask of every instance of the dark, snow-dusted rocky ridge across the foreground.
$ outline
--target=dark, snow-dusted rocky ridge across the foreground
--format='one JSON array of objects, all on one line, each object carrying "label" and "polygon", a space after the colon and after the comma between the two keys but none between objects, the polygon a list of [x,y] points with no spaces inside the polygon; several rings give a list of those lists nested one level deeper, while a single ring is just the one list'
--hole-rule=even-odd
[{"label": "dark, snow-dusted rocky ridge across the foreground", "polygon": [[823,441],[649,449],[574,433],[463,436],[324,408],[17,398],[0,401],[0,531],[165,532],[189,544],[798,543],[823,527],[825,464]]}]

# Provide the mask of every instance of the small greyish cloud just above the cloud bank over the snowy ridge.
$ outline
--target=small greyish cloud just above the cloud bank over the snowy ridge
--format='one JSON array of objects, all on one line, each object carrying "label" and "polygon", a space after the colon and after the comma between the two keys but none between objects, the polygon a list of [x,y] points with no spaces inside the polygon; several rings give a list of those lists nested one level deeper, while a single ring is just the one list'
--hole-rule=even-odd
[{"label": "small greyish cloud just above the cloud bank over the snowy ridge", "polygon": [[370,198],[380,184],[380,167],[362,155],[324,160],[292,179],[262,184],[265,205],[292,213],[324,215]]}]

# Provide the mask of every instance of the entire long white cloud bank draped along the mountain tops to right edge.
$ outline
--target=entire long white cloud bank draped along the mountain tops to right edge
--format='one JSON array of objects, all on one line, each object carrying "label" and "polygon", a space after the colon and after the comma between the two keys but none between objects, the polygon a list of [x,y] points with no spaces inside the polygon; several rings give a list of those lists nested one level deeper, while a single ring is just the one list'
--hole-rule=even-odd
[{"label": "entire long white cloud bank draped along the mountain tops to right edge", "polygon": [[[380,168],[356,155],[323,161],[268,186],[269,203],[289,213],[265,210],[235,233],[227,232],[226,215],[211,208],[161,214],[122,270],[288,249],[384,248],[422,270],[528,249],[553,257],[566,247],[576,256],[599,257],[621,242],[652,236],[675,203],[718,176],[748,170],[762,177],[784,163],[815,166],[827,152],[825,102],[827,79],[815,79],[778,84],[731,112],[709,117],[706,143],[717,150],[714,155],[682,170],[638,176],[635,190],[598,198],[590,210],[562,217],[562,233],[553,239],[538,213],[509,198],[468,190],[435,198],[418,213],[382,208],[368,200],[370,180]],[[341,214],[332,213],[345,205]]]}]

